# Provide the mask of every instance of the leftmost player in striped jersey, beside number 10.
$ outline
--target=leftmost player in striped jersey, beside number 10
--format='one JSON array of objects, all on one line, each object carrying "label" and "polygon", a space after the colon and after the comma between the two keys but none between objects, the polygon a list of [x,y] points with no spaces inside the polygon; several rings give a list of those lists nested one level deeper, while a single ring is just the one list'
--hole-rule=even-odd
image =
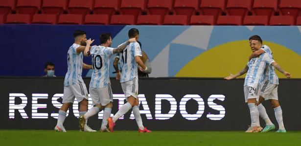
[{"label": "leftmost player in striped jersey, beside number 10", "polygon": [[[57,124],[54,128],[56,131],[66,132],[63,123],[66,119],[66,111],[74,102],[74,98],[80,104],[79,115],[84,115],[88,110],[88,91],[82,79],[82,69],[92,69],[91,65],[83,63],[83,51],[86,48],[87,36],[86,32],[77,30],[73,34],[74,43],[69,47],[67,60],[68,71],[64,80],[64,96],[63,105],[59,110]],[[93,132],[89,126],[85,127],[85,131]]]}]

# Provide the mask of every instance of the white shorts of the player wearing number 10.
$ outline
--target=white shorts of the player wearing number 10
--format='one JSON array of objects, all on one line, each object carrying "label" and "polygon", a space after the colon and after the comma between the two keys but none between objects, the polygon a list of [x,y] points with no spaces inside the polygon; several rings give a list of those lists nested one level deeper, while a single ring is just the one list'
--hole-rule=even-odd
[{"label": "white shorts of the player wearing number 10", "polygon": [[107,87],[104,88],[89,88],[90,96],[92,98],[92,105],[102,106],[108,105],[110,102],[113,102],[113,93],[111,89],[111,84],[109,83]]}]

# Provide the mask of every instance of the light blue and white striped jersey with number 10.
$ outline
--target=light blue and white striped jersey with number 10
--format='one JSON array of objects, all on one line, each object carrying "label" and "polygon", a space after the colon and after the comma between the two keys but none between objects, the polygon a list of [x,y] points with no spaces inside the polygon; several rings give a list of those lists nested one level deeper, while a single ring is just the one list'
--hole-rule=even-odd
[{"label": "light blue and white striped jersey with number 10", "polygon": [[114,48],[104,46],[93,46],[90,49],[93,66],[90,87],[104,88],[110,83],[110,57],[113,55],[113,50]]}]

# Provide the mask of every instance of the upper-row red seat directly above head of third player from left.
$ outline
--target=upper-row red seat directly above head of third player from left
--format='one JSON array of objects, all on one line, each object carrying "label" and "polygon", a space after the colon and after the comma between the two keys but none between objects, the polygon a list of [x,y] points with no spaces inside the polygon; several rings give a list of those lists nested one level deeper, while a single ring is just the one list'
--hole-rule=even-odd
[{"label": "upper-row red seat directly above head of third player from left", "polygon": [[122,0],[120,5],[120,13],[122,15],[133,15],[135,20],[144,10],[145,0]]}]

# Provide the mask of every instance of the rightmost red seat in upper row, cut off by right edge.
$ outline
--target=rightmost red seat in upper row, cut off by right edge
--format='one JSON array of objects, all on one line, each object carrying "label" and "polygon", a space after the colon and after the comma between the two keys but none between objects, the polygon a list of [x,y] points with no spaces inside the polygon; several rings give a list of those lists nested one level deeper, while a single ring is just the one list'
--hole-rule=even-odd
[{"label": "rightmost red seat in upper row, cut off by right edge", "polygon": [[279,4],[280,15],[291,15],[297,18],[301,12],[300,0],[281,0]]}]

